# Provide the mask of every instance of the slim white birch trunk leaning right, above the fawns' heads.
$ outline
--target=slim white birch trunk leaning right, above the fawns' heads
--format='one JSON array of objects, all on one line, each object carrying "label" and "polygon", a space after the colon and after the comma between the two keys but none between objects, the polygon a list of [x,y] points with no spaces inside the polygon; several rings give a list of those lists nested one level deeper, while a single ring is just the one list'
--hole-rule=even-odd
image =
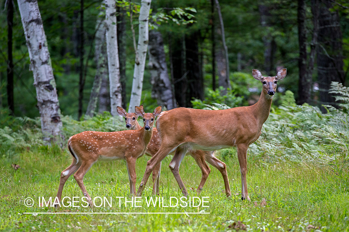
[{"label": "slim white birch trunk leaning right, above the fawns' heads", "polygon": [[[138,61],[135,61],[131,99],[128,107],[128,112],[134,112],[134,107],[141,103],[144,68],[146,65],[147,49],[149,42],[149,10],[151,0],[142,0],[139,13],[139,34],[136,54]],[[137,57],[136,55],[136,57]]]}]

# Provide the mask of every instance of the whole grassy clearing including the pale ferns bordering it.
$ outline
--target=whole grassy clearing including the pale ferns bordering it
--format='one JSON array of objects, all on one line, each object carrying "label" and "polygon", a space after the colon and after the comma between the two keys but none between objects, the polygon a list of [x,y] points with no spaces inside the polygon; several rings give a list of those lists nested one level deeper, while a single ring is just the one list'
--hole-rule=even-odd
[{"label": "whole grassy clearing including the pale ferns bordering it", "polygon": [[[347,89],[337,93],[349,96]],[[345,95],[341,91],[346,91]],[[282,106],[272,108],[262,135],[248,149],[247,184],[251,202],[241,200],[241,177],[235,149],[223,149],[216,156],[227,164],[232,197],[227,198],[221,174],[211,167],[200,197],[209,197],[209,207],[148,207],[152,181],[147,183],[142,207],[119,207],[116,197],[129,196],[125,161],[97,162],[84,177],[94,197],[112,197],[109,207],[76,208],[39,206],[38,197],[55,197],[59,176],[71,162],[67,149],[44,146],[39,119],[12,118],[0,114],[0,231],[349,231],[349,104],[344,110],[296,106],[287,92]],[[348,103],[349,98],[342,102]],[[227,107],[215,104],[215,107]],[[0,112],[1,113],[1,112]],[[64,135],[83,130],[115,131],[124,123],[110,114],[77,122],[62,118]],[[64,143],[64,141],[63,141]],[[65,146],[66,147],[66,146]],[[162,163],[160,197],[182,197],[168,168],[172,157]],[[136,163],[138,188],[149,158]],[[20,165],[14,170],[12,164]],[[180,174],[190,197],[201,179],[201,171],[186,157]],[[82,197],[73,177],[62,196]],[[36,200],[32,208],[24,199]],[[98,203],[98,201],[97,201]],[[84,205],[82,202],[77,205]],[[146,212],[210,214],[84,214],[28,215],[24,212]]]}]

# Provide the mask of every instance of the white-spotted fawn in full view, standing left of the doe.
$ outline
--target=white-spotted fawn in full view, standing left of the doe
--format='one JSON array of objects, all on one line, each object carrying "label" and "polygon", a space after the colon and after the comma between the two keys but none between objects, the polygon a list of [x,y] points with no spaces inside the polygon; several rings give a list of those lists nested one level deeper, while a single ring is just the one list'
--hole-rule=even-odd
[{"label": "white-spotted fawn in full view, standing left of the doe", "polygon": [[[72,164],[61,173],[57,198],[61,201],[65,182],[73,173],[82,193],[91,201],[83,184],[83,177],[98,160],[126,160],[130,193],[135,194],[137,158],[146,151],[153,134],[153,124],[156,116],[161,113],[161,106],[156,107],[153,113],[144,113],[136,106],[137,115],[143,117],[144,126],[139,130],[124,130],[115,132],[84,131],[73,135],[68,140],[68,148],[74,159]],[[55,204],[57,206],[57,204]]]}]

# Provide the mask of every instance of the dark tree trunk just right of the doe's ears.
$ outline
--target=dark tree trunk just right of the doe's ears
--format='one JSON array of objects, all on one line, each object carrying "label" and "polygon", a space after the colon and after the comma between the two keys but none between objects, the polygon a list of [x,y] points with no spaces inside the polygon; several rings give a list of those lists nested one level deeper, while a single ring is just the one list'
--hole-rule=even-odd
[{"label": "dark tree trunk just right of the doe's ears", "polygon": [[311,76],[307,73],[306,28],[305,28],[305,0],[298,0],[298,43],[299,43],[299,82],[298,104],[310,104]]}]

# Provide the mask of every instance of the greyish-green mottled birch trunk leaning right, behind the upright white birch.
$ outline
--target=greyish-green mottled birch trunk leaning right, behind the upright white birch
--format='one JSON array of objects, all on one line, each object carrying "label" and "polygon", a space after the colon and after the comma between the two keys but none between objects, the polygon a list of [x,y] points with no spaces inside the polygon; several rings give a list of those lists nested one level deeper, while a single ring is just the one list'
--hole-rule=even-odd
[{"label": "greyish-green mottled birch trunk leaning right, behind the upright white birch", "polygon": [[[101,7],[102,11],[103,8]],[[99,14],[101,16],[103,12]],[[93,117],[96,112],[98,97],[99,97],[99,90],[101,89],[102,84],[102,76],[108,75],[106,66],[107,63],[107,57],[106,57],[106,44],[105,44],[105,19],[102,17],[98,17],[97,23],[96,23],[96,45],[95,45],[95,62],[97,64],[97,70],[95,74],[95,80],[93,82],[91,95],[90,95],[90,101],[87,106],[86,115],[89,115],[90,117]],[[106,71],[106,72],[105,72]]]}]

